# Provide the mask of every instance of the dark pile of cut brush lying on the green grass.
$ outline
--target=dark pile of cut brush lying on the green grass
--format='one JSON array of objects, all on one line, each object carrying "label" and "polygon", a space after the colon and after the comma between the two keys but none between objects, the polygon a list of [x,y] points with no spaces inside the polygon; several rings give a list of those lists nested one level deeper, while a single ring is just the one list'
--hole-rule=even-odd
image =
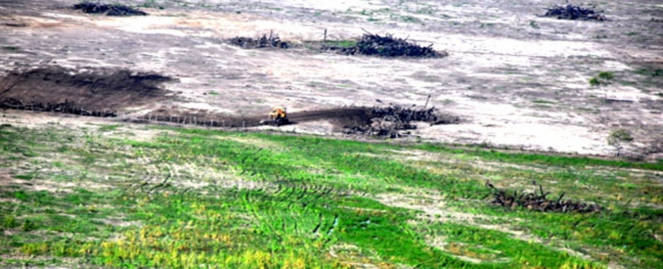
[{"label": "dark pile of cut brush lying on the green grass", "polygon": [[493,199],[490,201],[491,205],[494,206],[503,206],[506,208],[527,208],[529,210],[540,210],[541,212],[596,212],[600,211],[603,208],[595,204],[587,203],[574,203],[570,199],[562,200],[564,198],[565,192],[562,192],[561,195],[555,200],[549,200],[546,198],[550,192],[544,192],[544,187],[537,185],[537,182],[534,181],[534,186],[539,188],[540,193],[537,194],[537,191],[534,192],[521,192],[520,195],[514,190],[513,192],[508,192],[506,190],[499,190],[495,188],[489,181],[486,181],[486,186],[492,188],[494,191],[492,193]]}]

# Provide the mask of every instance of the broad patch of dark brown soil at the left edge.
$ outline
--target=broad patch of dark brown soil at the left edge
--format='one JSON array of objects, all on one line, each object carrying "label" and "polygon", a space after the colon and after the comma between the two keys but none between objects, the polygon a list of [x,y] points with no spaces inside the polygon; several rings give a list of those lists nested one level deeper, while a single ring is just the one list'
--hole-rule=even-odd
[{"label": "broad patch of dark brown soil at the left edge", "polygon": [[171,80],[160,74],[102,68],[81,71],[55,66],[15,70],[0,78],[0,103],[13,105],[4,109],[42,108],[77,114],[81,109],[117,110],[164,99],[166,90],[158,86]]}]

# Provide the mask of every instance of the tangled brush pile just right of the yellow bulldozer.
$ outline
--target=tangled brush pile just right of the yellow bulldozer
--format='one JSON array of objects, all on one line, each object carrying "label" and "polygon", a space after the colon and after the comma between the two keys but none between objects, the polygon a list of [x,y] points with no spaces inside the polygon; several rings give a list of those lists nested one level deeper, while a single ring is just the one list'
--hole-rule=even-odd
[{"label": "tangled brush pile just right of the yellow bulldozer", "polygon": [[[379,101],[379,100],[378,100]],[[374,106],[369,110],[369,121],[364,126],[345,126],[346,135],[375,135],[378,137],[399,138],[410,135],[415,121],[436,124],[456,124],[460,118],[436,113],[436,108],[414,109],[392,103],[389,106]],[[405,131],[405,132],[404,132]]]}]

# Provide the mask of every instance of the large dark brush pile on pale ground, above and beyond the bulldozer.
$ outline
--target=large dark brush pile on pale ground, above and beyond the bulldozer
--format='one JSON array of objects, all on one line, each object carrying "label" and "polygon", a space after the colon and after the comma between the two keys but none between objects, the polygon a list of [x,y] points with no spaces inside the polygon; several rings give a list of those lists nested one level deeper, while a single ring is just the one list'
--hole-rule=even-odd
[{"label": "large dark brush pile on pale ground, above and beyond the bulldozer", "polygon": [[364,54],[378,57],[423,57],[423,58],[441,58],[448,56],[448,52],[438,52],[433,50],[432,44],[429,46],[419,46],[415,43],[407,42],[406,39],[394,38],[392,34],[385,34],[381,37],[378,34],[369,32],[363,34],[361,39],[352,47],[332,46],[328,50],[336,50],[347,55]]}]

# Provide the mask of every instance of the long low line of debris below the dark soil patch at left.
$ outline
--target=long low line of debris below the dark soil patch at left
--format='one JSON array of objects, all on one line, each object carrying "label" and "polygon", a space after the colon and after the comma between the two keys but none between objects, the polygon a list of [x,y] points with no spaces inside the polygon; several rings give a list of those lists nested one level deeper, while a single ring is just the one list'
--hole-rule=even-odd
[{"label": "long low line of debris below the dark soil patch at left", "polygon": [[23,103],[23,101],[19,99],[8,98],[0,101],[0,109],[58,112],[90,117],[117,117],[117,111],[115,110],[86,110],[85,108],[76,106],[75,103],[69,101],[64,101],[64,103],[46,104],[37,101]]}]

